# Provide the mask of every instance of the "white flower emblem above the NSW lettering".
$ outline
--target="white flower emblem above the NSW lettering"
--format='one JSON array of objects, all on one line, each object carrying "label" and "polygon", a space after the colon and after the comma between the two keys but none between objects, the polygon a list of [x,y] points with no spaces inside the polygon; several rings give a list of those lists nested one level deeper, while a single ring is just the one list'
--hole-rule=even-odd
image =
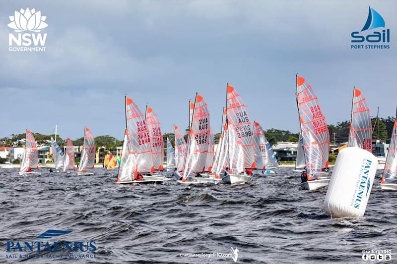
[{"label": "white flower emblem above the NSW lettering", "polygon": [[34,31],[34,32],[40,32],[41,29],[48,27],[48,24],[45,23],[46,21],[46,16],[41,15],[41,11],[34,10],[29,10],[29,8],[26,8],[26,10],[21,10],[15,11],[14,16],[10,16],[9,20],[11,23],[9,23],[7,26],[14,29],[15,32],[21,32],[21,31]]}]

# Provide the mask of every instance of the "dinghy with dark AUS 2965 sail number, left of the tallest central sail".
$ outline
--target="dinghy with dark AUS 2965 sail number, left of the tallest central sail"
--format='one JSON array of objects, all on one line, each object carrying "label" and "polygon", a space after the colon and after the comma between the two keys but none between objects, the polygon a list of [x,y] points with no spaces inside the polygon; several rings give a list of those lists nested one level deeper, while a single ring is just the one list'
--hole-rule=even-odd
[{"label": "dinghy with dark AUS 2965 sail number, left of the tallest central sail", "polygon": [[183,165],[182,184],[213,183],[209,177],[202,177],[206,170],[206,161],[210,140],[210,122],[207,104],[202,96],[196,93],[195,103],[189,104],[188,144]]}]

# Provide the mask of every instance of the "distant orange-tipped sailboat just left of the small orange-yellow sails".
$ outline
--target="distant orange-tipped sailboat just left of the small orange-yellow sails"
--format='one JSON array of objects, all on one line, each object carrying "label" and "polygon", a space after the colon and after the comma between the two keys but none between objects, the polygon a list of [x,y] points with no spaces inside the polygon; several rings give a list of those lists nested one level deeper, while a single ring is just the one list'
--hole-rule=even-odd
[{"label": "distant orange-tipped sailboat just left of the small orange-yellow sails", "polygon": [[78,166],[78,175],[92,175],[87,169],[94,168],[95,163],[95,139],[91,130],[84,127],[84,143],[81,151],[80,165]]}]

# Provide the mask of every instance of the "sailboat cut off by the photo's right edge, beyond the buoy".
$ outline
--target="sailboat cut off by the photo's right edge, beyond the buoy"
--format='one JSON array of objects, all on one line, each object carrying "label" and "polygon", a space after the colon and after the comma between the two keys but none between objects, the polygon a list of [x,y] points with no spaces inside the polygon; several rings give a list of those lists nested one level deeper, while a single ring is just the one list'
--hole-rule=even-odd
[{"label": "sailboat cut off by the photo's right edge, beyond the buoy", "polygon": [[381,188],[382,190],[397,190],[397,114],[394,120],[385,169],[383,170]]}]

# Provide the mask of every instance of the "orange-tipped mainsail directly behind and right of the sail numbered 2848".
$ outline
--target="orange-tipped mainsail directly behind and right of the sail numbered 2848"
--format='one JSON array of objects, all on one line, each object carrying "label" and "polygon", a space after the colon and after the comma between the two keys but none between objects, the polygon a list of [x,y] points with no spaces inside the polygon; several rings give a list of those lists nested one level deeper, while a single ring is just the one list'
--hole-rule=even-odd
[{"label": "orange-tipped mainsail directly behind and right of the sail numbered 2848", "polygon": [[146,107],[145,121],[150,133],[154,169],[163,170],[164,139],[161,133],[160,121],[157,114],[148,106]]}]

